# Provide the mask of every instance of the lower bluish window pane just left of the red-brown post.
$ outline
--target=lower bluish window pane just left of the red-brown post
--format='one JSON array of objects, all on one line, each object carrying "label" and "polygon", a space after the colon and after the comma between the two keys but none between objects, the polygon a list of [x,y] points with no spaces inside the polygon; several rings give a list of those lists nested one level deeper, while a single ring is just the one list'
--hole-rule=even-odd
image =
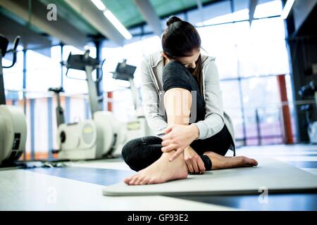
[{"label": "lower bluish window pane just left of the red-brown post", "polygon": [[242,79],[244,122],[247,144],[282,143],[282,124],[278,82],[273,77]]}]

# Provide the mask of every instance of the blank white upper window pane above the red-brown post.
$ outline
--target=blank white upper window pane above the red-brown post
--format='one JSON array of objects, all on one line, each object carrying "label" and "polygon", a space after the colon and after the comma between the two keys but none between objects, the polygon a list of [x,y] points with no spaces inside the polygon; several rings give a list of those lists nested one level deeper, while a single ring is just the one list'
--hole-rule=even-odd
[{"label": "blank white upper window pane above the red-brown post", "polygon": [[[236,34],[240,28],[236,28]],[[238,72],[242,77],[290,72],[284,24],[280,18],[254,20],[251,30],[245,30],[238,37],[237,53]]]}]

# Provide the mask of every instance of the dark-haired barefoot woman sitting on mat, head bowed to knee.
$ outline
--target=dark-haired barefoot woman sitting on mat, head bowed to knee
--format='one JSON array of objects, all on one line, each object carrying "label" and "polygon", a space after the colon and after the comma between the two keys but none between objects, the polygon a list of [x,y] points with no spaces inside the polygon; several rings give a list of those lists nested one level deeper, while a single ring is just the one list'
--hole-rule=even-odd
[{"label": "dark-haired barefoot woman sitting on mat, head bowed to knee", "polygon": [[215,59],[201,55],[197,30],[175,16],[166,24],[163,52],[141,66],[144,113],[158,136],[125,144],[123,159],[139,171],[125,183],[159,184],[185,179],[188,172],[256,166],[244,156],[224,156],[228,149],[235,155],[232,122],[223,112]]}]

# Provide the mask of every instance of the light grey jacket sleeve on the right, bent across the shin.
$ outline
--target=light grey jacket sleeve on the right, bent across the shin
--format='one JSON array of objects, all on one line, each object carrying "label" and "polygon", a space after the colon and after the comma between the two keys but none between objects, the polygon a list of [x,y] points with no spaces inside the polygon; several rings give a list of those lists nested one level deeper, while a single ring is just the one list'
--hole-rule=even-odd
[{"label": "light grey jacket sleeve on the right, bent across the shin", "polygon": [[205,77],[206,115],[204,120],[194,123],[199,129],[198,139],[208,139],[217,134],[225,125],[223,118],[223,97],[215,61],[211,60],[203,72]]}]

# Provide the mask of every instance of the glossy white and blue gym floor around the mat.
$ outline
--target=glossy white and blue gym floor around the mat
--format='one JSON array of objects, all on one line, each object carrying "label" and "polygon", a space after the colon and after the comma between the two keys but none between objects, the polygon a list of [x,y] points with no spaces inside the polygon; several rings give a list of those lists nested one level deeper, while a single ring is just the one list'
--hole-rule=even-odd
[{"label": "glossy white and blue gym floor around the mat", "polygon": [[[317,146],[249,146],[237,149],[237,155],[275,158],[317,175]],[[108,197],[101,193],[104,186],[135,173],[123,160],[67,162],[66,165],[2,169],[0,210],[317,210],[317,193],[268,193],[267,203],[260,203],[260,193]]]}]

